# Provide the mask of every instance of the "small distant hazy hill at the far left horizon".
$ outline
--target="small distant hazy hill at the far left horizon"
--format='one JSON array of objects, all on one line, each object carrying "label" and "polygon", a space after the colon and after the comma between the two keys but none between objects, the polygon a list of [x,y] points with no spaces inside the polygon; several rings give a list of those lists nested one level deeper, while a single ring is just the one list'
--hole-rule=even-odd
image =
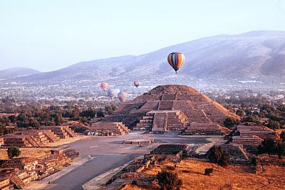
[{"label": "small distant hazy hill at the far left horizon", "polygon": [[9,68],[6,70],[0,70],[0,79],[19,78],[28,75],[36,75],[39,73],[41,72],[31,68]]}]

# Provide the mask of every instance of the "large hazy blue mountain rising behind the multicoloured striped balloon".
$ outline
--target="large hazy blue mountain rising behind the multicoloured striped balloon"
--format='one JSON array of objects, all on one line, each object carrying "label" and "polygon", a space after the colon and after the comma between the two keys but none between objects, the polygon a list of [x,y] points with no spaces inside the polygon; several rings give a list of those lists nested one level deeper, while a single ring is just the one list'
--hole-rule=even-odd
[{"label": "large hazy blue mountain rising behind the multicoloured striped balloon", "polygon": [[[139,44],[138,44],[139,46]],[[167,63],[172,51],[185,54],[185,64],[174,74]],[[176,77],[176,78],[175,78]],[[284,83],[285,31],[251,31],[219,35],[162,48],[140,56],[122,56],[76,63],[67,68],[21,78],[24,81],[165,81],[192,78],[232,83],[257,80]]]}]

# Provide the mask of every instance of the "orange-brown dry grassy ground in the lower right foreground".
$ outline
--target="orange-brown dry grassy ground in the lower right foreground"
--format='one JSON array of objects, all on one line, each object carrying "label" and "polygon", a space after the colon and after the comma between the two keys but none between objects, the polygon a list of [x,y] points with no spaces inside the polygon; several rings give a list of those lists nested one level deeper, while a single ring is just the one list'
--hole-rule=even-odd
[{"label": "orange-brown dry grassy ground in the lower right foreground", "polygon": [[[167,162],[144,171],[157,174],[163,168],[175,167]],[[204,169],[213,168],[210,176],[204,175]],[[265,166],[260,174],[253,174],[247,166],[219,167],[201,159],[187,159],[176,164],[175,172],[183,181],[182,189],[285,189],[285,167]],[[144,189],[127,185],[124,190]]]}]

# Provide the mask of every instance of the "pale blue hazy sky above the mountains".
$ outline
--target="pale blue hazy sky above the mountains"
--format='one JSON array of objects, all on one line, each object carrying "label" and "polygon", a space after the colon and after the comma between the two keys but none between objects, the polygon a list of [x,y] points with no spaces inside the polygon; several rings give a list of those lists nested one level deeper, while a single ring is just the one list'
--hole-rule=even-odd
[{"label": "pale blue hazy sky above the mountains", "polygon": [[285,31],[285,0],[0,0],[0,70],[56,70],[217,34]]}]

